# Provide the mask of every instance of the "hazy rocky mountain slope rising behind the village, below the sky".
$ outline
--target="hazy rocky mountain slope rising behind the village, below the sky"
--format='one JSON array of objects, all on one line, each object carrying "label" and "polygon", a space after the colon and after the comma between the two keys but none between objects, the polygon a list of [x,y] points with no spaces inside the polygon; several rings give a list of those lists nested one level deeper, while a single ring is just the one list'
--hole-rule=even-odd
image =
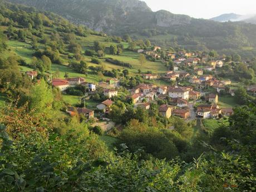
[{"label": "hazy rocky mountain slope rising behind the village, below the sky", "polygon": [[180,45],[200,51],[215,49],[225,54],[239,53],[245,57],[256,55],[254,24],[219,23],[168,11],[152,12],[144,2],[137,0],[11,2],[52,11],[73,23],[85,24],[91,29],[112,35],[123,36],[128,33],[137,39],[150,38],[162,46]]}]

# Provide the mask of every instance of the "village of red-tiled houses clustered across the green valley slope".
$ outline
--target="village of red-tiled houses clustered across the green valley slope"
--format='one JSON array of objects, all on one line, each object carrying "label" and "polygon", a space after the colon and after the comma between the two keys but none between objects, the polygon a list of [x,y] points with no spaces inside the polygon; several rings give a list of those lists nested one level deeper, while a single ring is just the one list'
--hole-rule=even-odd
[{"label": "village of red-tiled houses clustered across the green valley slope", "polygon": [[[137,50],[147,58],[161,58],[159,54],[161,47],[154,47],[152,51]],[[232,107],[220,107],[218,105],[219,95],[223,92],[230,97],[235,96],[235,89],[232,88],[232,81],[218,79],[215,77],[216,70],[223,67],[225,58],[213,58],[206,54],[198,55],[191,52],[166,52],[170,61],[174,64],[170,71],[163,74],[140,73],[143,80],[151,83],[141,82],[138,85],[127,88],[125,97],[134,108],[140,107],[150,110],[152,104],[163,101],[159,105],[159,114],[167,119],[171,116],[179,116],[186,121],[195,119],[219,119],[223,116],[233,114]],[[190,71],[182,70],[186,67]],[[37,76],[36,71],[26,72],[32,79]],[[70,115],[76,113],[99,122],[100,119],[108,120],[111,106],[115,104],[114,98],[118,100],[121,86],[121,77],[108,78],[99,83],[87,82],[85,78],[53,78],[52,86],[57,87],[61,92],[66,92],[70,87],[82,86],[85,89],[81,96],[83,107],[69,106],[66,112]],[[159,82],[164,83],[159,83]],[[248,91],[255,94],[256,86],[248,87]],[[93,109],[86,107],[86,102],[95,93],[101,94],[102,101],[97,103]],[[104,100],[103,100],[104,99]],[[158,102],[159,103],[159,102]]]}]

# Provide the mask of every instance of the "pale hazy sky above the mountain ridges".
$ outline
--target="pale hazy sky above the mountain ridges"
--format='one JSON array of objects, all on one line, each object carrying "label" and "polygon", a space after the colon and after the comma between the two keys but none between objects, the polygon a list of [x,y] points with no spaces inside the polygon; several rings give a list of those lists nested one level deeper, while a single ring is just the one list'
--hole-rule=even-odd
[{"label": "pale hazy sky above the mountain ridges", "polygon": [[256,14],[256,0],[141,0],[152,11],[165,9],[195,18],[212,18],[223,13]]}]

